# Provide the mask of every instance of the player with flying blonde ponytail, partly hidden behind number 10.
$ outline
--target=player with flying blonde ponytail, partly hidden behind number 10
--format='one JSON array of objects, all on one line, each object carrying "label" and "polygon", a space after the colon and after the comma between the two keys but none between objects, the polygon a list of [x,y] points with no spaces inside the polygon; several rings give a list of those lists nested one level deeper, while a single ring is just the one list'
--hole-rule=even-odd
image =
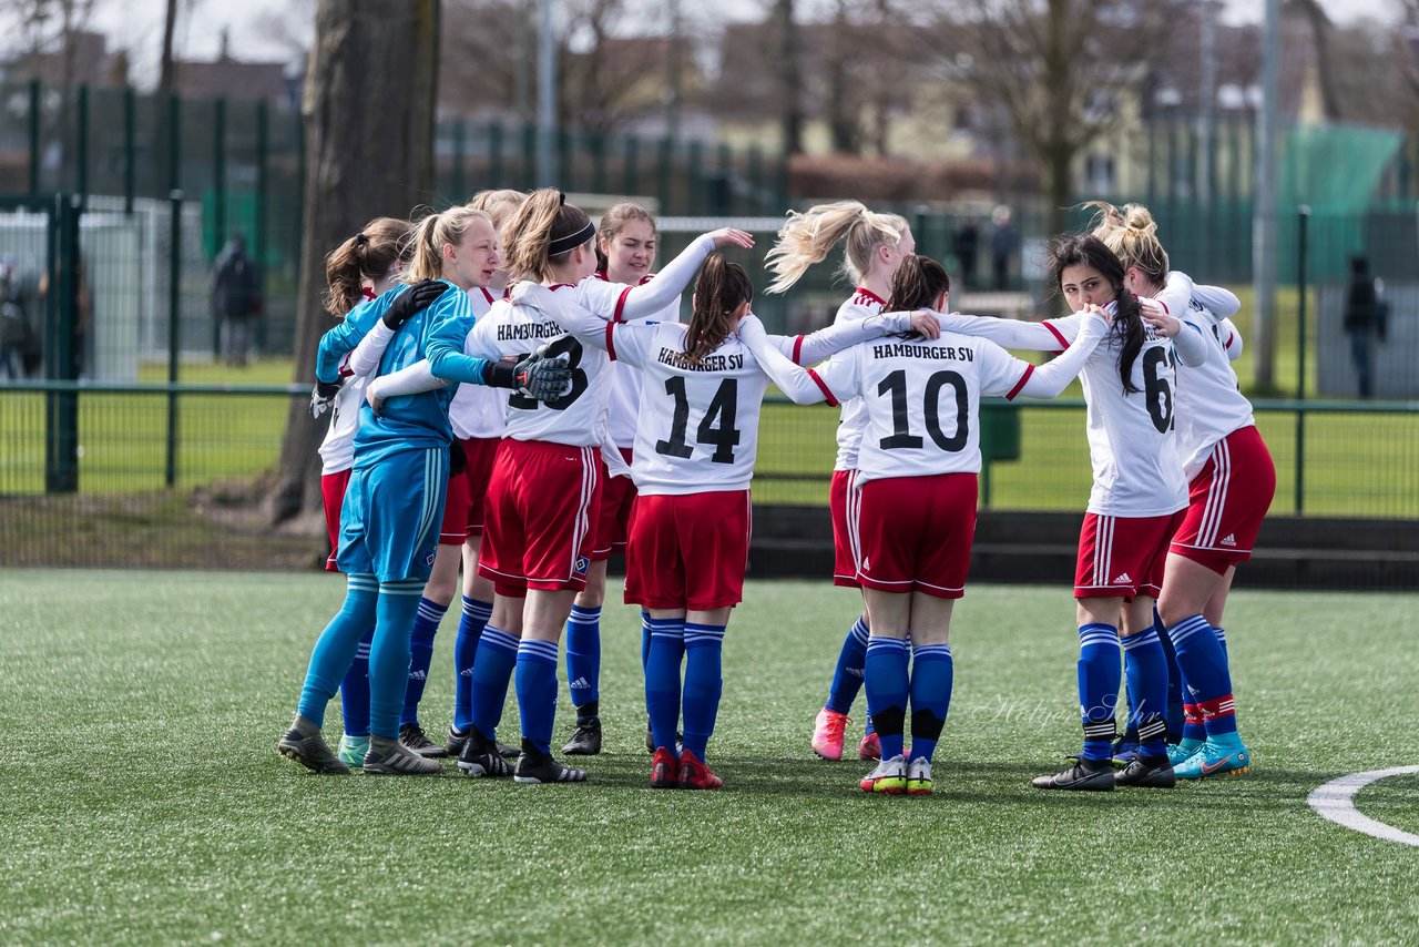
[{"label": "player with flying blonde ponytail, partly hidden behind number 10", "polygon": [[[778,241],[768,254],[775,280],[769,292],[783,292],[807,271],[827,257],[844,240],[840,273],[853,281],[853,295],[837,310],[834,324],[850,322],[881,312],[883,300],[891,288],[893,274],[900,263],[915,250],[915,239],[907,220],[897,214],[880,214],[856,200],[819,204],[807,212],[790,213],[779,230]],[[857,581],[857,520],[851,504],[857,503],[853,481],[857,477],[857,450],[863,439],[866,409],[860,399],[843,402],[837,426],[837,460],[833,464],[833,486],[829,490],[829,513],[833,518],[833,585],[860,588]],[[833,669],[827,701],[813,721],[813,752],[824,760],[843,758],[843,738],[847,713],[863,684],[870,635],[867,612],[853,623],[843,639]],[[880,755],[871,716],[867,731],[857,748],[863,760]]]}]

